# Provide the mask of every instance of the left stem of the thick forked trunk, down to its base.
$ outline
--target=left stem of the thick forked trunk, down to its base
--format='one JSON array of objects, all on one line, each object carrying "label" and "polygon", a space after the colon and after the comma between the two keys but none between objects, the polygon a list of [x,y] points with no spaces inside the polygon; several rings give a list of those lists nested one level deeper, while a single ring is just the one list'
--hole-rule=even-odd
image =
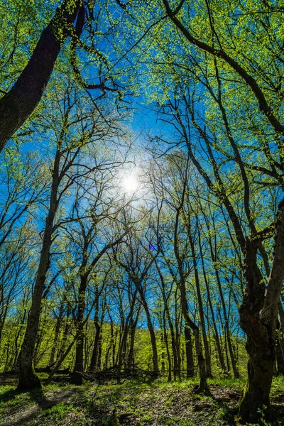
[{"label": "left stem of the thick forked trunk, down to its base", "polygon": [[[255,258],[254,258],[255,257]],[[240,307],[240,323],[247,335],[249,354],[248,385],[239,405],[239,417],[244,422],[258,421],[258,410],[270,405],[269,393],[273,377],[275,347],[272,334],[261,322],[259,312],[263,307],[265,284],[256,266],[256,248],[248,244],[246,256],[246,284],[248,293]],[[254,266],[254,267],[253,267]],[[253,289],[253,292],[251,290]]]}]

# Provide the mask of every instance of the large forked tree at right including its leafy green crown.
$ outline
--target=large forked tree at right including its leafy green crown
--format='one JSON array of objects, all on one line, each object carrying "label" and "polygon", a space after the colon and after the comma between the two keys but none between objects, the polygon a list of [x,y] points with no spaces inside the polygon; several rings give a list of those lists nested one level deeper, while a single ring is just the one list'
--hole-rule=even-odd
[{"label": "large forked tree at right including its leafy green crown", "polygon": [[[266,185],[273,182],[283,187],[283,11],[264,1],[192,4],[182,0],[175,4],[162,0],[156,1],[153,7],[146,3],[141,9],[137,8],[138,11],[136,7],[135,1],[124,5],[129,11],[129,21],[131,14],[138,16],[141,10],[147,16],[140,28],[146,53],[144,62],[151,71],[148,72],[151,75],[148,92],[149,87],[155,87],[155,94],[149,97],[160,105],[171,104],[168,121],[178,126],[181,135],[175,143],[181,140],[186,143],[190,160],[224,205],[242,252],[246,295],[239,312],[241,327],[248,335],[249,386],[240,402],[239,417],[244,422],[257,421],[258,410],[269,405],[275,359],[278,299],[284,278],[284,251],[280,244],[283,202],[279,203],[275,215],[275,228],[267,222],[263,226],[253,216],[251,193],[261,173],[273,178]],[[261,41],[263,38],[265,43]],[[153,53],[153,45],[157,55]],[[133,52],[138,54],[138,50]],[[192,78],[185,82],[187,76]],[[187,89],[182,89],[186,86],[192,88],[190,96]],[[179,114],[182,103],[182,114]],[[236,142],[240,138],[242,143]],[[248,139],[249,146],[245,143]],[[197,159],[195,151],[199,144],[202,160]],[[221,173],[222,165],[230,162],[236,165],[241,176],[241,214],[229,196],[231,185],[224,180],[226,173]],[[251,178],[252,175],[255,178]],[[261,180],[258,180],[258,190]],[[269,268],[264,246],[273,229],[275,260]],[[258,253],[266,268],[264,275]],[[267,285],[264,284],[266,275]]]}]

